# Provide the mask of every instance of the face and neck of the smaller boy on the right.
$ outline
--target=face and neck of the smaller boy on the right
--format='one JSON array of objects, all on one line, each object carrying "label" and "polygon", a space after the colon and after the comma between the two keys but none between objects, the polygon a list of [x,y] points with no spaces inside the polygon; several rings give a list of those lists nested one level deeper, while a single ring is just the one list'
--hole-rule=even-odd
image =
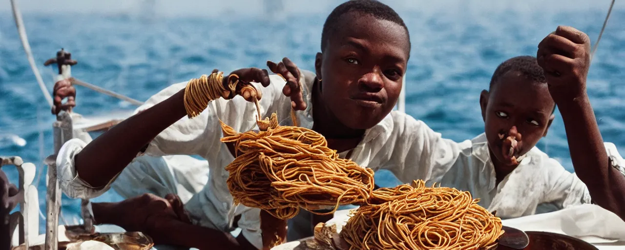
[{"label": "face and neck of the smaller boy on the right", "polygon": [[[479,104],[498,184],[518,165],[507,155],[510,145],[499,134],[521,134],[514,156],[526,154],[547,135],[554,119],[555,103],[547,84],[534,83],[516,71],[509,71],[492,85],[490,92],[482,91]],[[512,127],[516,128],[516,134]]]}]

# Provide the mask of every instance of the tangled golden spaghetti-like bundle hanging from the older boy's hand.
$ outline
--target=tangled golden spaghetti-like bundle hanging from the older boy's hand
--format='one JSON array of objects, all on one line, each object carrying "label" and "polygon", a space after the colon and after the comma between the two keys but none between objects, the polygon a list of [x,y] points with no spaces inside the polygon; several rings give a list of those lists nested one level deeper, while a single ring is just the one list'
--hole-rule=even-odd
[{"label": "tangled golden spaghetti-like bundle hanging from the older boy's hand", "polygon": [[[226,166],[227,186],[236,204],[258,207],[279,219],[299,207],[359,204],[373,191],[373,171],[339,158],[321,134],[278,126],[276,114],[258,121],[266,131],[236,133],[221,123],[224,143],[234,143],[236,159]],[[263,125],[264,124],[264,125]],[[332,211],[334,212],[334,211]]]}]

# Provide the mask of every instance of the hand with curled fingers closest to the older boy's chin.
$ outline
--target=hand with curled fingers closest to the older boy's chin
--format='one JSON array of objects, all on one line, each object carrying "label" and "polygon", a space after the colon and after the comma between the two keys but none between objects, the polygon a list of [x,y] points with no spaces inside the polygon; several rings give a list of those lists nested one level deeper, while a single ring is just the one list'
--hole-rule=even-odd
[{"label": "hand with curled fingers closest to the older boy's chin", "polygon": [[299,68],[288,58],[283,58],[281,62],[274,63],[267,61],[267,67],[271,72],[279,74],[286,81],[286,85],[282,88],[282,94],[291,98],[291,107],[295,110],[306,109],[306,101],[302,93],[300,78],[302,76]]}]

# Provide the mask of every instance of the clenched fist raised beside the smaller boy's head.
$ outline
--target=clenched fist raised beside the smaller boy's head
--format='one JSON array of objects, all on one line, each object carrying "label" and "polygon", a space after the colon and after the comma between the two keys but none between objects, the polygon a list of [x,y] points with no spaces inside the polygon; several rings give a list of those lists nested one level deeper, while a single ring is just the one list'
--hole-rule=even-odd
[{"label": "clenched fist raised beside the smaller boy's head", "polygon": [[590,39],[573,27],[558,26],[538,44],[536,58],[556,104],[586,96]]}]

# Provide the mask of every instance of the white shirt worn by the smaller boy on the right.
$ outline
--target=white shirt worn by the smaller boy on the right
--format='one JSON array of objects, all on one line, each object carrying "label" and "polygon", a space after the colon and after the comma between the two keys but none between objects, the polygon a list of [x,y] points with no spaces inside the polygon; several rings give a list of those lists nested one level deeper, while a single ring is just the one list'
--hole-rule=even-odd
[{"label": "white shirt worn by the smaller boy on the right", "polygon": [[[427,184],[456,187],[479,198],[479,205],[497,211],[504,219],[551,212],[591,203],[588,189],[576,174],[566,171],[555,159],[532,148],[519,166],[496,184],[486,135],[459,143],[461,153],[447,169],[434,170]],[[625,161],[612,143],[605,143],[612,166],[625,174]]]}]

